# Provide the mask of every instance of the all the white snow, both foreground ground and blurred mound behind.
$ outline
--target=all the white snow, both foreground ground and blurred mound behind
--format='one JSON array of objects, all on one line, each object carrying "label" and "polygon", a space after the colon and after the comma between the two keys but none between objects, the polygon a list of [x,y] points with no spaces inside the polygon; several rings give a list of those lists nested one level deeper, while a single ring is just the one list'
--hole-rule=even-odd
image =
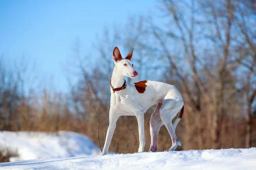
[{"label": "all the white snow, both foreground ground and blurred mound behind", "polygon": [[255,147],[101,156],[87,136],[66,131],[0,132],[0,144],[26,160],[0,163],[0,170],[256,170]]}]

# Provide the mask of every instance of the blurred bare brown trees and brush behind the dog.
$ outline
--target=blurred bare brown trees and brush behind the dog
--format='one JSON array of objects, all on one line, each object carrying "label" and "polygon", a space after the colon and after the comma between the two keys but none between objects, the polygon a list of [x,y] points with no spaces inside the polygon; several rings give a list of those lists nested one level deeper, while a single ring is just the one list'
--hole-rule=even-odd
[{"label": "blurred bare brown trees and brush behind the dog", "polygon": [[[112,54],[118,46],[122,55],[134,48],[132,62],[139,77],[132,81],[166,82],[182,94],[185,110],[176,129],[182,146],[177,150],[256,147],[256,2],[163,0],[160,4],[155,15],[132,17],[122,28],[105,30],[90,56],[81,57],[77,40],[72,59],[77,61],[80,79],[68,94],[24,94],[20,73],[1,65],[0,130],[72,130],[98,144],[97,118],[83,73],[99,114],[103,146]],[[92,55],[97,62],[90,61]],[[145,114],[145,151],[153,110],[154,106]],[[110,150],[116,151],[125,136],[118,152],[132,153],[136,131],[136,117],[120,117]],[[135,136],[138,139],[137,132]],[[171,144],[168,131],[161,128],[158,151]]]}]

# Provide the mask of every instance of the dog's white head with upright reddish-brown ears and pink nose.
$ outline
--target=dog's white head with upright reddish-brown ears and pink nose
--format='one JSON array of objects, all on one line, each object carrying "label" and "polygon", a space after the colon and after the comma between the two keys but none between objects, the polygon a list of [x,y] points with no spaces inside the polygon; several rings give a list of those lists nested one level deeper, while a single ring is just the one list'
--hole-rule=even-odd
[{"label": "dog's white head with upright reddish-brown ears and pink nose", "polygon": [[123,59],[119,49],[116,47],[113,51],[113,61],[116,65],[115,67],[117,68],[120,74],[122,74],[123,76],[128,76],[133,79],[138,75],[138,73],[136,70],[134,70],[133,63],[131,62],[132,52],[133,49]]}]

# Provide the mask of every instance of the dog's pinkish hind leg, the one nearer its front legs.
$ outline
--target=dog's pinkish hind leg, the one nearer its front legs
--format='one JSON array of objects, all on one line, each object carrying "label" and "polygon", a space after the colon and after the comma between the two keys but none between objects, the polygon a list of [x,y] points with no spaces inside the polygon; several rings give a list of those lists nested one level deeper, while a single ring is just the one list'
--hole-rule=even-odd
[{"label": "dog's pinkish hind leg, the one nearer its front legs", "polygon": [[149,151],[156,152],[157,151],[157,135],[160,129],[160,126],[163,124],[160,118],[160,108],[163,104],[163,99],[159,99],[157,101],[157,106],[154,112],[151,115],[150,119],[150,136],[151,136],[151,144]]}]

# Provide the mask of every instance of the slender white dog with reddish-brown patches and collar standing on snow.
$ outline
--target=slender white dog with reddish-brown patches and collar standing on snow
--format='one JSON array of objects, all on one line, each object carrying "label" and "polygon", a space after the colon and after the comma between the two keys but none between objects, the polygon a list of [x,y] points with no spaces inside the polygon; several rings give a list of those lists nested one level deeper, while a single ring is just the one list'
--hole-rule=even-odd
[{"label": "slender white dog with reddish-brown patches and collar standing on snow", "polygon": [[[122,58],[117,47],[113,51],[115,67],[110,80],[109,126],[102,155],[108,153],[119,116],[136,116],[140,141],[138,153],[143,152],[145,146],[144,113],[152,105],[156,105],[156,107],[150,119],[151,144],[149,151],[157,151],[157,134],[162,125],[166,126],[172,138],[172,147],[168,151],[175,150],[178,145],[181,146],[175,134],[175,128],[183,115],[184,102],[182,96],[174,85],[163,82],[146,80],[136,83],[126,82],[125,77],[133,79],[138,75],[131,62],[133,50],[125,58]],[[172,125],[172,119],[176,115],[178,115],[177,119]]]}]

